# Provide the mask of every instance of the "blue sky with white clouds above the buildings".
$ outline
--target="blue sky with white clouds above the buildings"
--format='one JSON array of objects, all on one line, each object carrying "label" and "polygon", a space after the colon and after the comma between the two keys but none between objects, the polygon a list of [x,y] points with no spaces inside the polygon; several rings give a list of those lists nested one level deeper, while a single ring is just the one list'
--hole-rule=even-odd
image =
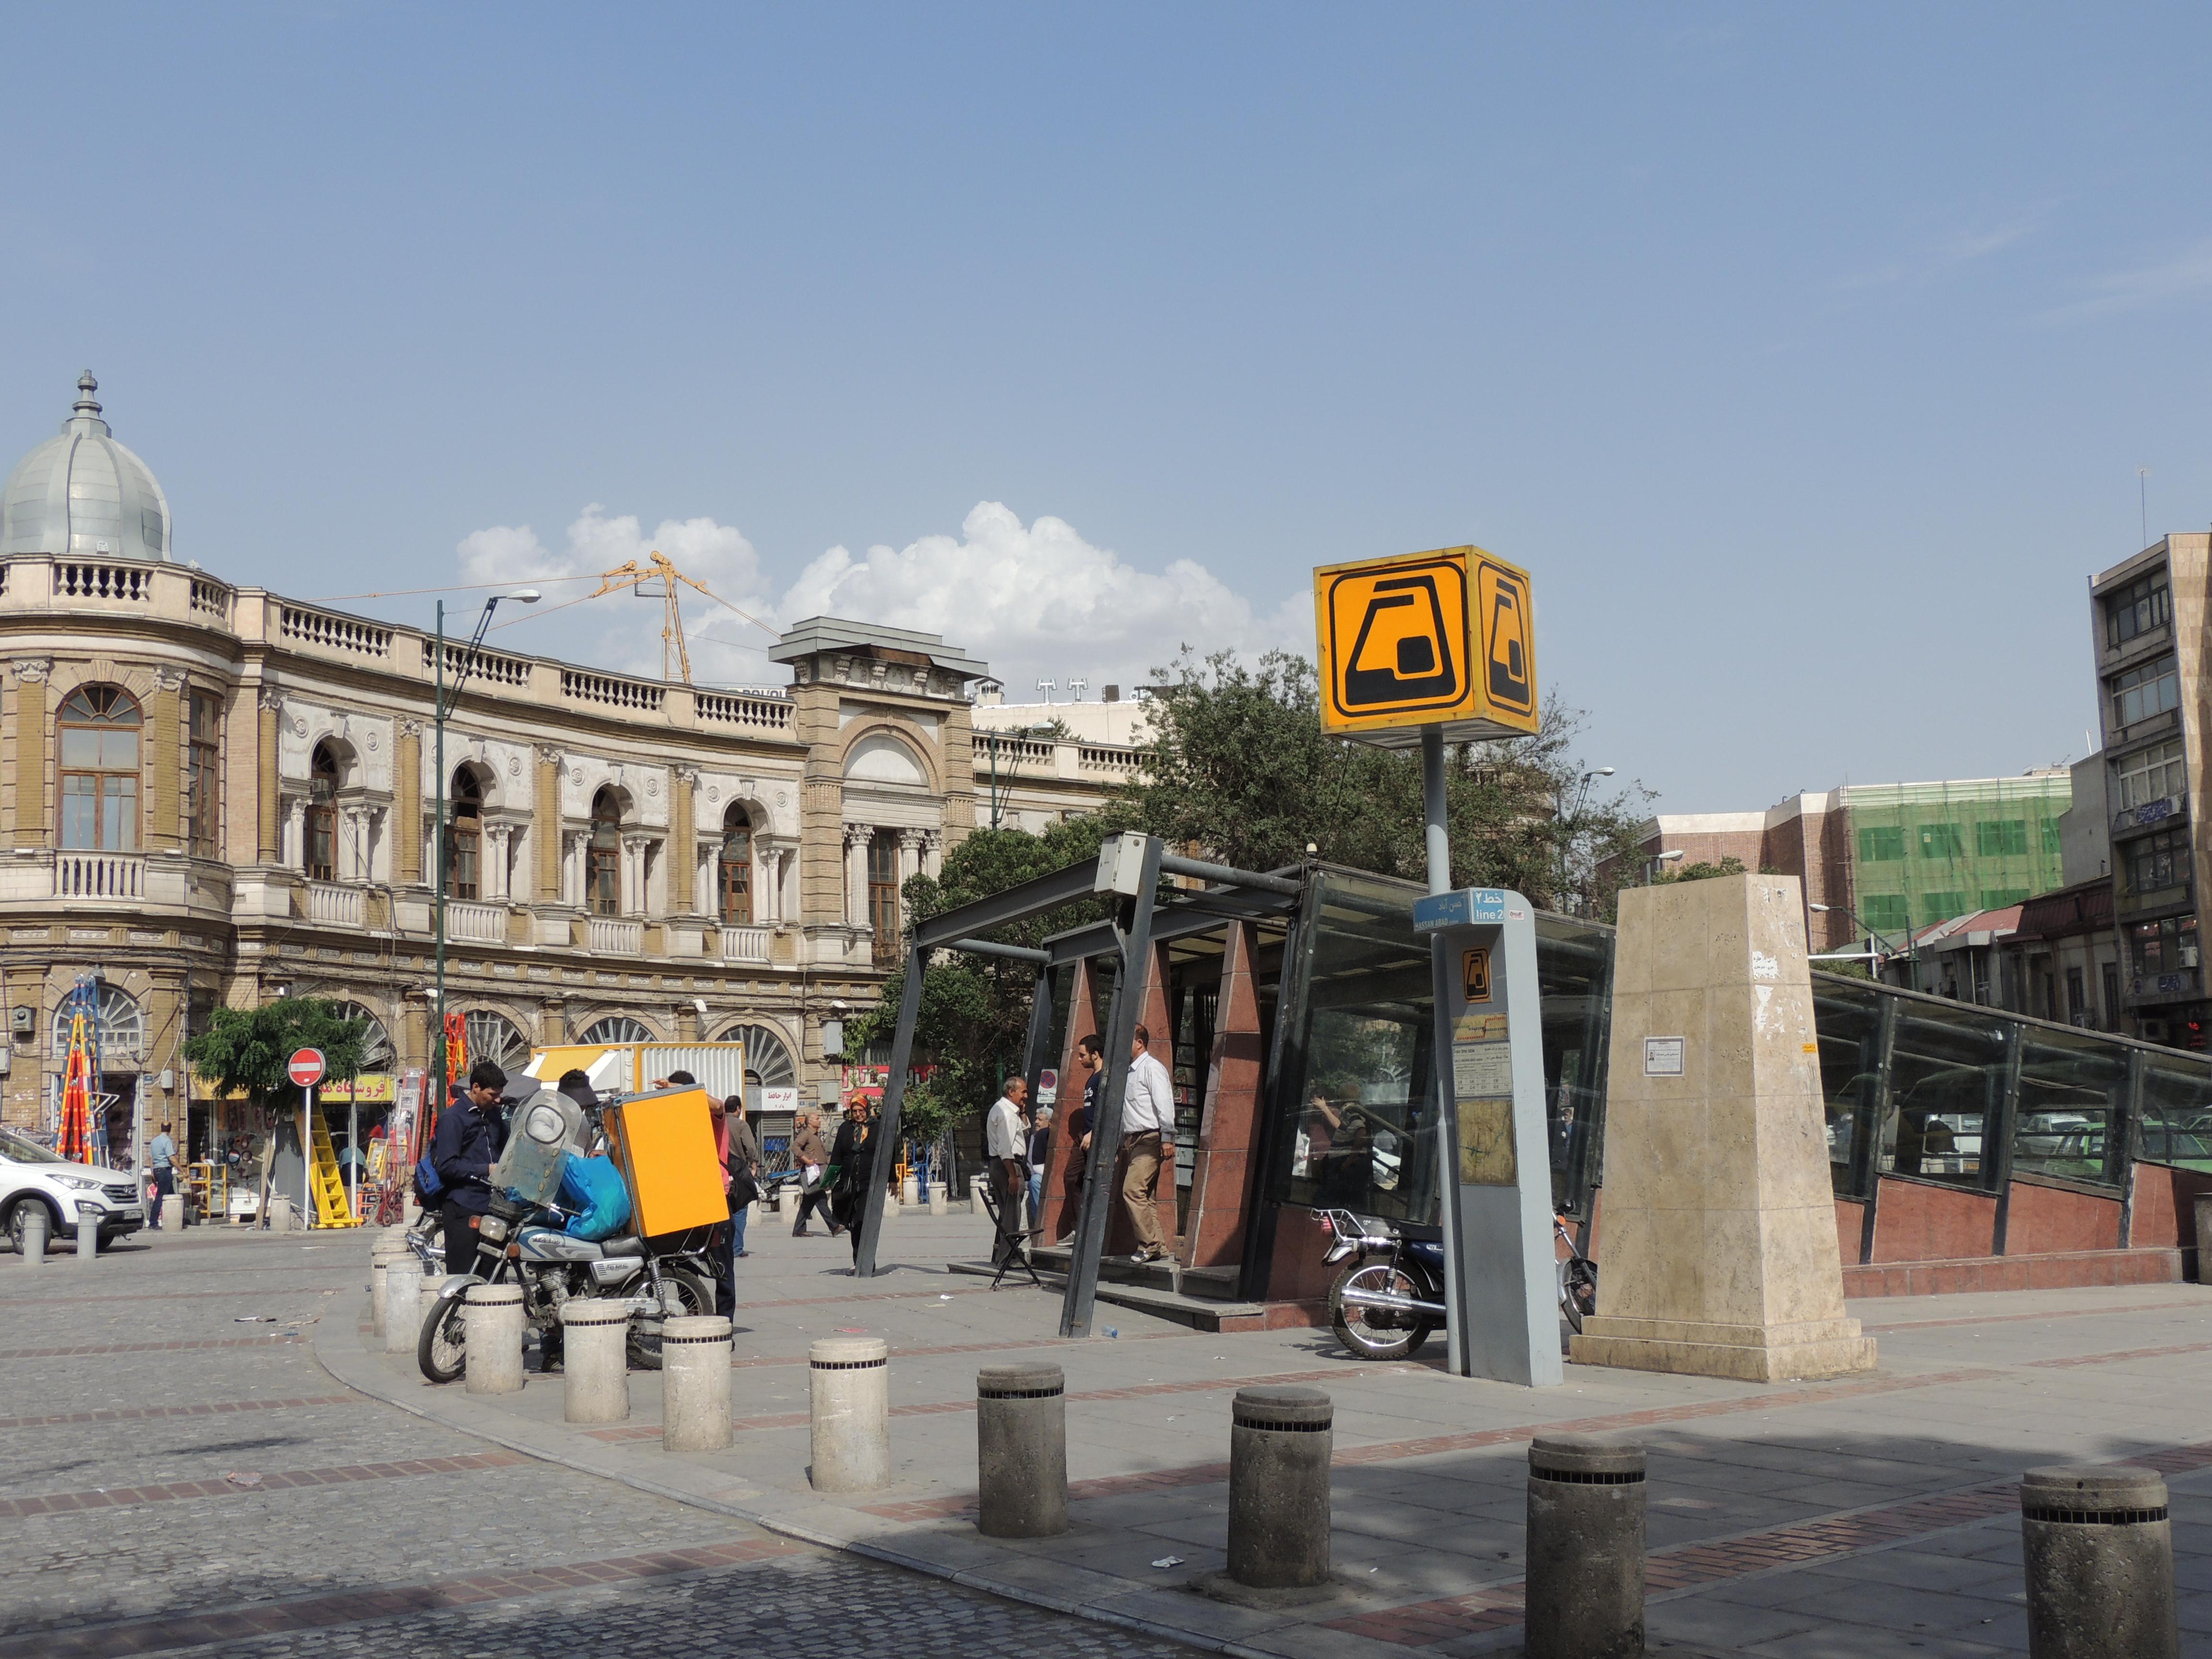
[{"label": "blue sky with white clouds above the buildings", "polygon": [[[2020,772],[2084,752],[2137,469],[2152,535],[2212,520],[2208,46],[2183,7],[18,11],[0,451],[91,365],[232,580],[664,546],[1015,692],[1312,650],[1310,566],[1473,540],[1668,810]],[[641,666],[655,611],[500,639]],[[697,613],[701,679],[761,679]]]}]

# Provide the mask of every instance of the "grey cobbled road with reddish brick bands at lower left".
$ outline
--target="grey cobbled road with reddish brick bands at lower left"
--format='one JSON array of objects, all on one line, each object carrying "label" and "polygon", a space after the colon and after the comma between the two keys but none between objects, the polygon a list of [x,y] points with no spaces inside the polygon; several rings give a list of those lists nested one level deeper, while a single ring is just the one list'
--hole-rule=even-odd
[{"label": "grey cobbled road with reddish brick bands at lower left", "polygon": [[363,1239],[221,1230],[93,1265],[0,1254],[0,1659],[827,1659],[869,1628],[925,1657],[1188,1652],[354,1396],[296,1334],[354,1316],[365,1261]]}]

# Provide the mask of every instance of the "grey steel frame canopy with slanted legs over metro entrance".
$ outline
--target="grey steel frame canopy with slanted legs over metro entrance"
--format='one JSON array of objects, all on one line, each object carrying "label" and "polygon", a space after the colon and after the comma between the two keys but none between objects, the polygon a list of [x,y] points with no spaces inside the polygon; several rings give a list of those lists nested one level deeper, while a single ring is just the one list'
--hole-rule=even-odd
[{"label": "grey steel frame canopy with slanted legs over metro entrance", "polygon": [[[1208,883],[1203,889],[1170,889],[1161,902],[1161,876],[1190,876]],[[1037,1073],[1048,1060],[1046,1044],[1053,1026],[1053,969],[1068,967],[1093,956],[1115,956],[1113,1004],[1106,1013],[1106,1055],[1121,1057],[1106,1066],[1106,1093],[1099,1102],[1099,1117],[1091,1126],[1091,1139],[1104,1159],[1102,1168],[1113,1168],[1115,1148],[1121,1144],[1121,1095],[1128,1084],[1128,1051],[1135,1042],[1137,1011],[1146,975],[1146,956],[1152,945],[1201,933],[1223,922],[1248,916],[1274,916],[1294,911],[1305,896],[1305,883],[1281,872],[1259,874],[1230,869],[1197,858],[1181,858],[1166,849],[1159,836],[1119,834],[1110,836],[1095,863],[1068,865],[1051,876],[1009,887],[1004,894],[978,898],[973,905],[931,916],[916,922],[907,951],[907,975],[898,1000],[898,1029],[891,1035],[891,1068],[883,1084],[883,1117],[876,1124],[876,1146],[898,1146],[900,1115],[907,1102],[907,1068],[914,1064],[914,1020],[922,1002],[922,969],[931,951],[971,951],[975,956],[1000,956],[1015,962],[1033,962],[1037,982],[1029,1011],[1029,1044],[1022,1055],[1022,1075],[1031,1091]],[[1091,927],[1057,933],[1035,951],[1024,945],[1000,945],[975,938],[998,927],[1011,927],[1055,909],[1066,909],[1086,898],[1108,900],[1113,916]],[[1130,987],[1137,987],[1130,993]],[[1106,1217],[1113,1203],[1113,1181],[1084,1181],[1084,1201],[1075,1221],[1075,1241],[1068,1261],[1068,1283],[1060,1307],[1062,1336],[1091,1334],[1091,1307],[1097,1298],[1099,1252],[1106,1245]],[[854,1276],[876,1274],[876,1248],[883,1239],[883,1201],[867,1194],[860,1203],[860,1250],[854,1256]]]}]

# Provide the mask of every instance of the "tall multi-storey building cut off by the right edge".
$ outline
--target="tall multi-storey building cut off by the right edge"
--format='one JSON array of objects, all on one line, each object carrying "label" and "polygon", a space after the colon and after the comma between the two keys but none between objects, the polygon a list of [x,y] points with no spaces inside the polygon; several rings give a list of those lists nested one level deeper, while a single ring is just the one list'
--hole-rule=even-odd
[{"label": "tall multi-storey building cut off by the right edge", "polygon": [[2188,1048],[2205,1046],[2208,562],[2212,535],[2166,535],[2088,584],[2124,1029]]}]

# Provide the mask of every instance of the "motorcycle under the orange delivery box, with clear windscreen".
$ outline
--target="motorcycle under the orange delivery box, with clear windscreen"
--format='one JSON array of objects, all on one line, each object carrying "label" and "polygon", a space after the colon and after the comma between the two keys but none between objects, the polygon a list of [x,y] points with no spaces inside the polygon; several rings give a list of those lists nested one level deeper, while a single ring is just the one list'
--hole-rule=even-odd
[{"label": "motorcycle under the orange delivery box, with clear windscreen", "polygon": [[[630,1312],[630,1365],[661,1367],[661,1323],[714,1312],[714,1279],[706,1261],[708,1228],[670,1239],[591,1241],[562,1232],[566,1214],[551,1201],[571,1146],[597,1130],[584,1110],[555,1091],[540,1091],[518,1113],[518,1133],[491,1170],[493,1197],[476,1225],[471,1272],[449,1276],[422,1318],[416,1365],[431,1383],[453,1383],[465,1369],[462,1301],[469,1285],[522,1285],[522,1323],[538,1332],[542,1354],[557,1354],[560,1310],[571,1298],[619,1301]],[[407,1237],[431,1265],[429,1217]],[[440,1263],[442,1265],[442,1263]]]}]

